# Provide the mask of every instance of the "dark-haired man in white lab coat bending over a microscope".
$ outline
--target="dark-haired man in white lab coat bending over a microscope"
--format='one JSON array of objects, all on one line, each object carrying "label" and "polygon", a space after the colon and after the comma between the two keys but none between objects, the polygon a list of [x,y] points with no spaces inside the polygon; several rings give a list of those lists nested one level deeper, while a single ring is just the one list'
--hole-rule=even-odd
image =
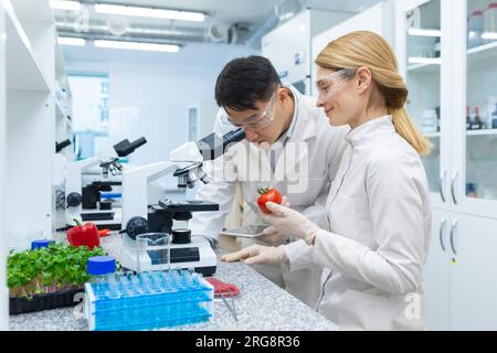
[{"label": "dark-haired man in white lab coat bending over a microscope", "polygon": [[[218,117],[214,130],[225,133],[242,127],[246,140],[207,165],[211,182],[201,186],[195,197],[218,203],[220,211],[194,213],[192,234],[216,243],[237,182],[248,206],[244,210],[245,225],[265,224],[257,207],[262,186],[277,189],[293,208],[324,225],[326,197],[348,128],[330,128],[316,99],[282,84],[271,62],[262,56],[231,61],[218,77],[215,99],[224,114]],[[293,239],[292,234],[279,234],[274,227],[264,233],[257,242],[265,245]],[[260,265],[256,270],[305,303],[316,303],[319,268],[289,272],[285,266]]]}]

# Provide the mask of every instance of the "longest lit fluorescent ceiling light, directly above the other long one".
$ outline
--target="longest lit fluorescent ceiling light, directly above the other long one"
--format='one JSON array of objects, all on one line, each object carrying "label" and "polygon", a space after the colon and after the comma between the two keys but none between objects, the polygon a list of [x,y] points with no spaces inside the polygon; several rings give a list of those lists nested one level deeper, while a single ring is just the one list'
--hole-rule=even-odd
[{"label": "longest lit fluorescent ceiling light, directly above the other long one", "polygon": [[205,20],[205,14],[202,12],[152,9],[141,7],[126,7],[120,4],[107,4],[107,3],[96,3],[95,11],[98,13],[134,15],[141,18],[156,18],[168,20],[182,20],[193,22],[202,22]]}]

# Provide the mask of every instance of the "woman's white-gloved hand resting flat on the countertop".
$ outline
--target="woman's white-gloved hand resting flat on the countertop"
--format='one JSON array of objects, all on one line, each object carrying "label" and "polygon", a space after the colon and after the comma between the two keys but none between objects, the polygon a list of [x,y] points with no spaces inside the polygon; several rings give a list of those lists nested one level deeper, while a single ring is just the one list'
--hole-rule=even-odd
[{"label": "woman's white-gloved hand resting flat on the countertop", "polygon": [[246,265],[283,265],[288,260],[288,257],[284,245],[273,247],[257,244],[221,257],[221,261],[225,263],[239,260],[245,260]]}]

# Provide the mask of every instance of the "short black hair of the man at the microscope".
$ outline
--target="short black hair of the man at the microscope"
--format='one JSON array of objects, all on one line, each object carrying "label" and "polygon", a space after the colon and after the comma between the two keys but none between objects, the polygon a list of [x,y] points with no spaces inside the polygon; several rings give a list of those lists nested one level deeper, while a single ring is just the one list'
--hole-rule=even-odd
[{"label": "short black hair of the man at the microscope", "polygon": [[251,55],[234,58],[224,66],[215,83],[215,101],[233,110],[257,109],[257,101],[269,100],[281,85],[273,64],[264,57]]}]

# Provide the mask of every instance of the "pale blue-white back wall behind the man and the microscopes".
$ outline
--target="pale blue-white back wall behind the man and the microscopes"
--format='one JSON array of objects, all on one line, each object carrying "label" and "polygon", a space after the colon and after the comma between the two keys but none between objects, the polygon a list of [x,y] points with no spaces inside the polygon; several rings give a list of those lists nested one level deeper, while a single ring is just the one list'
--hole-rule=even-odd
[{"label": "pale blue-white back wall behind the man and the microscopes", "polygon": [[[233,57],[250,54],[256,53],[245,46],[214,44],[191,44],[179,54],[64,47],[68,72],[108,74],[110,139],[145,136],[148,140],[130,156],[136,164],[165,160],[186,142],[187,107],[215,105],[215,79],[222,67]],[[209,118],[213,124],[214,117]]]}]

